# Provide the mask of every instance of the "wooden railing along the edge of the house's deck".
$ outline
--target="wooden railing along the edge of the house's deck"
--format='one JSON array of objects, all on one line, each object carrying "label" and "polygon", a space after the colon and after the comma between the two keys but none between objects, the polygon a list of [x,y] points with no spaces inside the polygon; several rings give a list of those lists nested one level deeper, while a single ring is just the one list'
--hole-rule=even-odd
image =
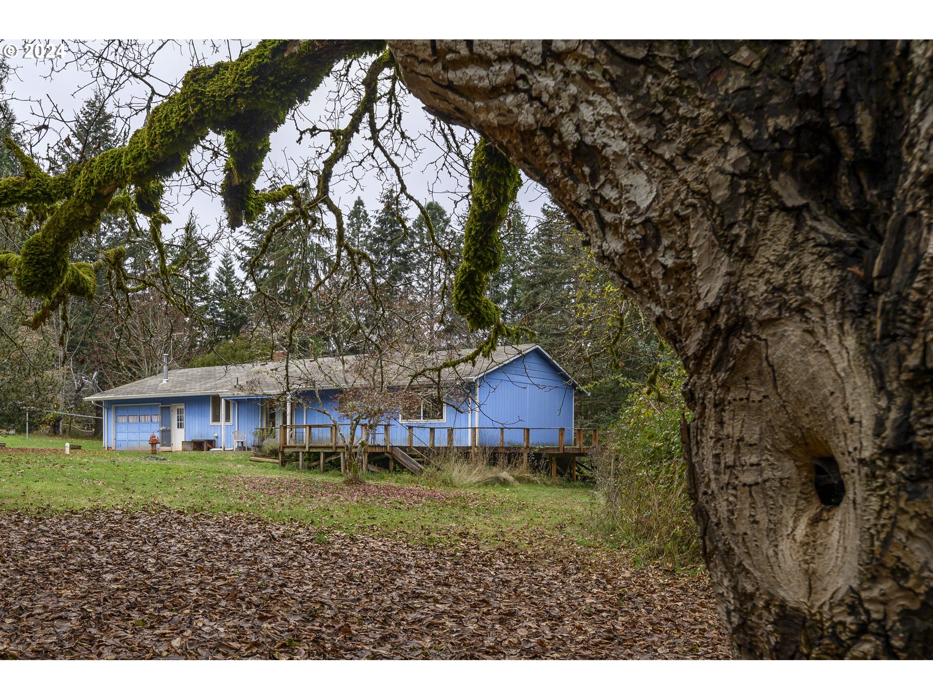
[{"label": "wooden railing along the edge of the house's deck", "polygon": [[[280,426],[279,444],[285,448],[334,451],[347,445],[349,423],[286,424]],[[372,446],[396,447],[511,447],[581,451],[599,444],[599,430],[582,427],[425,427],[388,424],[358,426],[353,440]]]}]

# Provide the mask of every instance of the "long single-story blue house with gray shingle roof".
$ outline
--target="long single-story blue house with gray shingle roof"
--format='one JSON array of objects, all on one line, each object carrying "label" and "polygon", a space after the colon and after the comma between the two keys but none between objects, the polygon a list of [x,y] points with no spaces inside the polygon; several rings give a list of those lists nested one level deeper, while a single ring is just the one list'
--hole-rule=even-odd
[{"label": "long single-story blue house with gray shingle roof", "polygon": [[[160,375],[85,400],[102,407],[104,446],[112,450],[148,450],[153,433],[163,452],[249,448],[266,437],[305,447],[364,437],[414,448],[549,445],[563,452],[575,444],[574,399],[582,389],[544,349],[501,347],[475,364],[432,369],[469,352],[381,359],[276,353],[267,362],[188,370],[169,370],[166,357]],[[416,399],[347,435],[353,416],[341,404],[386,390],[417,392]]]}]

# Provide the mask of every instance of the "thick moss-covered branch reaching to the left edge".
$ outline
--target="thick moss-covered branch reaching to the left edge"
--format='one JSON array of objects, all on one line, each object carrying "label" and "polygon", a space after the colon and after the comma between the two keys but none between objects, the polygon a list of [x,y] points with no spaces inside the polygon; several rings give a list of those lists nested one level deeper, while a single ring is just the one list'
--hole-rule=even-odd
[{"label": "thick moss-covered branch reaching to the left edge", "polygon": [[[22,247],[13,271],[17,287],[26,296],[48,300],[61,290],[92,293],[83,269],[68,264],[70,245],[93,230],[113,197],[131,185],[138,210],[160,217],[160,179],[178,172],[210,131],[224,133],[230,149],[223,186],[230,223],[238,226],[244,218],[257,217],[266,203],[290,194],[288,189],[255,189],[269,152],[269,133],[308,98],[334,63],[383,48],[381,41],[263,41],[236,61],[194,68],[125,147],[105,151],[64,175],[46,175],[8,142],[23,175],[0,179],[0,207],[27,203],[42,209],[36,218],[45,221]],[[7,266],[14,267],[9,261]]]}]

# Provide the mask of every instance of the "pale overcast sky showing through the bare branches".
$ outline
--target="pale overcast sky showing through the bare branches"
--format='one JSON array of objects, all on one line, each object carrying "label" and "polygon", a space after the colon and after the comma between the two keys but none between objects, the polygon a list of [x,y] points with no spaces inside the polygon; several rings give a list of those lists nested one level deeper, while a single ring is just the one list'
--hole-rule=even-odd
[{"label": "pale overcast sky showing through the bare branches", "polygon": [[[56,39],[49,39],[48,42],[51,45],[61,44]],[[7,78],[5,95],[3,96],[13,108],[17,119],[24,124],[35,126],[44,121],[41,115],[49,115],[55,107],[61,110],[66,119],[72,119],[80,106],[94,91],[94,85],[89,74],[77,69],[75,66],[69,66],[61,72],[50,74],[49,60],[38,61],[35,58],[27,59],[23,57],[23,42],[21,40],[0,39],[0,47],[5,47],[7,44],[13,44],[19,49],[17,56],[6,59],[13,72]],[[246,41],[245,44],[248,46],[251,42]],[[226,45],[221,46],[218,53],[214,53],[206,44],[199,44],[198,49],[207,55],[207,63],[227,60],[228,57],[228,47]],[[239,45],[233,44],[230,46],[230,50],[232,50],[235,57]],[[64,65],[61,58],[53,58],[50,61],[56,62],[58,67]],[[64,59],[64,62],[66,61],[67,57]],[[190,65],[191,59],[188,46],[172,45],[161,49],[153,73],[167,84],[177,84],[188,71]],[[302,112],[309,116],[327,114],[328,107],[332,106],[328,100],[328,85],[332,85],[332,83],[328,81],[314,92],[309,103],[302,108]],[[163,88],[162,91],[170,89],[168,85],[159,87]],[[132,88],[119,93],[118,99],[127,101],[131,96],[140,98],[145,97],[145,95],[145,86],[136,84]],[[341,125],[343,125],[346,119],[341,121]],[[61,123],[56,124],[54,121],[51,123],[52,128],[44,133],[42,142],[35,148],[34,152],[37,156],[44,155],[46,147],[54,146],[66,133],[66,131],[62,131],[63,125]],[[134,119],[131,122],[132,129],[138,128],[141,124],[142,118]],[[426,133],[429,129],[428,116],[418,101],[411,96],[408,97],[403,125],[410,134]],[[60,133],[55,133],[56,130],[60,131]],[[267,170],[270,166],[288,167],[290,163],[303,160],[312,155],[313,149],[309,147],[307,139],[303,144],[298,144],[297,141],[298,132],[290,121],[286,122],[278,132],[272,134],[272,151],[266,162]],[[355,146],[358,147],[362,143],[360,137],[357,136]],[[406,182],[409,189],[414,196],[423,202],[436,199],[446,209],[451,210],[453,208],[453,199],[451,195],[445,192],[462,189],[463,183],[458,185],[450,177],[446,176],[439,178],[437,170],[431,165],[432,161],[435,161],[439,156],[438,147],[435,147],[426,138],[421,140],[420,146],[424,148],[424,153],[418,160],[410,162],[407,168]],[[524,179],[525,183],[519,195],[520,203],[522,203],[522,208],[526,214],[537,217],[540,213],[541,204],[546,201],[546,196],[536,183],[528,180],[528,178]],[[260,186],[261,184],[260,181]],[[382,189],[383,183],[371,171],[363,174],[358,187],[349,178],[335,181],[332,185],[334,199],[341,204],[344,212],[350,209],[357,196],[363,198],[370,211],[375,209]],[[433,195],[430,193],[431,189],[433,189]],[[221,203],[205,192],[195,192],[190,199],[185,194],[176,189],[168,197],[169,201],[173,202],[172,208],[174,208],[174,211],[167,212],[173,219],[173,225],[175,227],[183,225],[188,217],[188,210],[193,209],[198,215],[202,226],[207,227],[209,230],[216,230],[217,222],[224,220]],[[179,197],[182,198],[179,199]],[[534,221],[530,223],[532,226],[534,225]],[[235,245],[233,241],[230,241],[230,243]]]}]

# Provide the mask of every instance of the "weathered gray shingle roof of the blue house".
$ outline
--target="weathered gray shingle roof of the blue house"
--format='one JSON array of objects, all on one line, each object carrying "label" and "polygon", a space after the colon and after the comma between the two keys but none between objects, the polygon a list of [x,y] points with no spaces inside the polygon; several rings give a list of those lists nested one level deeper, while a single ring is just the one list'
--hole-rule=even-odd
[{"label": "weathered gray shingle roof of the blue house", "polygon": [[[475,365],[467,362],[455,368],[442,370],[439,376],[435,371],[426,377],[419,377],[415,382],[427,384],[439,379],[442,383],[453,383],[458,379],[476,379],[515,357],[527,354],[536,347],[538,345],[535,343],[499,347],[491,357],[479,357]],[[372,356],[354,355],[292,359],[287,362],[287,369],[286,362],[280,361],[169,370],[167,382],[163,382],[162,375],[157,374],[102,391],[85,400],[155,399],[205,394],[230,397],[277,396],[285,393],[286,390],[346,388],[353,385],[377,383],[404,385],[411,381],[412,376],[418,371],[437,367],[449,359],[466,357],[470,352],[471,349],[444,350],[405,358],[383,358],[381,362]],[[377,372],[379,373],[378,379],[374,376]],[[571,384],[577,385],[569,375],[567,379]]]}]

